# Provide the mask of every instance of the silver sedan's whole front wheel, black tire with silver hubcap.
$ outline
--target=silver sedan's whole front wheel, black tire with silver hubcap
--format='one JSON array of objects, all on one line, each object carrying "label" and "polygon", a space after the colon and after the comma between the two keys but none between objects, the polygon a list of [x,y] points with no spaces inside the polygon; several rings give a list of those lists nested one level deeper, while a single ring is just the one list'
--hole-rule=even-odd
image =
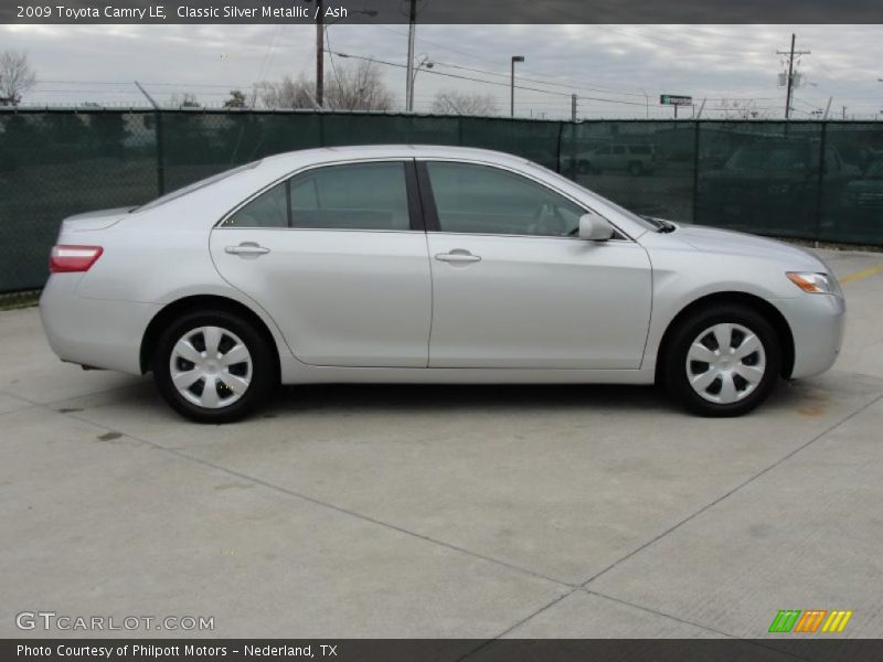
[{"label": "silver sedan's whole front wheel, black tire with silver hubcap", "polygon": [[781,371],[773,325],[744,306],[694,312],[674,329],[664,381],[689,409],[702,416],[741,416],[763,403]]}]

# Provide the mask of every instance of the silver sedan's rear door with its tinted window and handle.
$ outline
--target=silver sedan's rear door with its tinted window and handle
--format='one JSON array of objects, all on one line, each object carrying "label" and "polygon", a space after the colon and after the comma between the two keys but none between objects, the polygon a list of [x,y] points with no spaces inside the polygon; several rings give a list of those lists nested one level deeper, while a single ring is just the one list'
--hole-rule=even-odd
[{"label": "silver sedan's rear door with its tinted window and handle", "polygon": [[300,361],[427,365],[432,281],[413,160],[295,174],[222,221],[211,252]]}]

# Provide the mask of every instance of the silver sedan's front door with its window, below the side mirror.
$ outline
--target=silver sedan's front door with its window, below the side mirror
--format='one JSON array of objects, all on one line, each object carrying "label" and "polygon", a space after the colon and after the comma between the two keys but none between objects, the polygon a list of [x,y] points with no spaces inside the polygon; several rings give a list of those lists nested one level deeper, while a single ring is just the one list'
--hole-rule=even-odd
[{"label": "silver sedan's front door with its window, below the side mirror", "polygon": [[639,367],[651,298],[640,245],[576,238],[585,210],[522,174],[454,161],[422,172],[430,367]]}]

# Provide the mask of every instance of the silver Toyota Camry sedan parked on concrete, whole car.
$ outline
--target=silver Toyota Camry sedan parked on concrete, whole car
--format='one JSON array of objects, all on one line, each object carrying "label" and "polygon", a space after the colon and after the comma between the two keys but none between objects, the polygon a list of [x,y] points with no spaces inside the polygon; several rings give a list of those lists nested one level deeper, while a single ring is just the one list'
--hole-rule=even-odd
[{"label": "silver Toyota Camry sedan parked on concrete, whole car", "polygon": [[319,382],[658,383],[735,416],[828,370],[845,310],[800,248],[448,147],[279,154],[73,216],[50,270],[62,360],[152,372],[211,423]]}]

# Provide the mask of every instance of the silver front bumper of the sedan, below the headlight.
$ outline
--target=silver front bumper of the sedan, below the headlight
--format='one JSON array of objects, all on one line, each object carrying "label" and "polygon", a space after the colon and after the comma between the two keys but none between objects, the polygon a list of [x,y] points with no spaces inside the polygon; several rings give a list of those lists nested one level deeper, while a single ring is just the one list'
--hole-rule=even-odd
[{"label": "silver front bumper of the sedan, below the headlight", "polygon": [[804,295],[774,301],[794,335],[791,377],[809,377],[830,369],[843,343],[847,302],[833,295]]}]

